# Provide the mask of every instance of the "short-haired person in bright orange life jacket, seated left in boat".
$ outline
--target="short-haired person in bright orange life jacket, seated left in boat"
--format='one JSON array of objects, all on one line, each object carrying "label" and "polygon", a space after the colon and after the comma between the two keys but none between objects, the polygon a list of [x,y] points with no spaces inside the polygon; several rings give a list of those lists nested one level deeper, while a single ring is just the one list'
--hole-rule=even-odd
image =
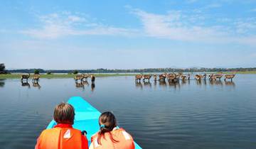
[{"label": "short-haired person in bright orange life jacket, seated left in boat", "polygon": [[75,109],[72,105],[61,103],[55,106],[54,128],[44,130],[38,137],[36,149],[88,149],[88,140],[81,131],[72,127]]}]

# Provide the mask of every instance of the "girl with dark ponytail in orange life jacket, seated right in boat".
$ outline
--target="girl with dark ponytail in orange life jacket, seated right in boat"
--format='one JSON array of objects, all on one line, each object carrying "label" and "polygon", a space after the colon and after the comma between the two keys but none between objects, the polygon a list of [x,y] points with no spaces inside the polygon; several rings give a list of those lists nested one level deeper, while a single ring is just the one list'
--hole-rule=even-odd
[{"label": "girl with dark ponytail in orange life jacket, seated right in boat", "polygon": [[99,118],[100,131],[91,138],[90,149],[134,149],[134,140],[123,128],[117,126],[117,119],[110,111]]}]

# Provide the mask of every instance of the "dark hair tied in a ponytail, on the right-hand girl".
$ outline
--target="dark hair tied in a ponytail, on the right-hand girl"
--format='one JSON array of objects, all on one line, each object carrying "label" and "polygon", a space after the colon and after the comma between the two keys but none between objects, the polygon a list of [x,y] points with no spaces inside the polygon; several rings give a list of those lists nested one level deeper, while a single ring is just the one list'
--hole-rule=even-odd
[{"label": "dark hair tied in a ponytail, on the right-hand girl", "polygon": [[119,142],[115,140],[112,136],[111,131],[117,126],[117,119],[114,117],[110,111],[106,111],[100,115],[99,118],[100,131],[98,132],[97,143],[101,145],[100,138],[105,137],[105,133],[110,133],[110,139],[113,143]]}]

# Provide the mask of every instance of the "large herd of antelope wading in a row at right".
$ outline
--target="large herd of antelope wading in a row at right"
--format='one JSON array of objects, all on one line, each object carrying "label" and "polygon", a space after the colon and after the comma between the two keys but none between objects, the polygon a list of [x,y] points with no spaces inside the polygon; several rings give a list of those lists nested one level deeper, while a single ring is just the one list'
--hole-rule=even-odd
[{"label": "large herd of antelope wading in a row at right", "polygon": [[[150,78],[152,77],[152,75],[136,75],[135,76],[135,81],[136,82],[140,82],[141,79],[143,80],[143,82],[149,81]],[[167,79],[168,82],[178,82],[179,79],[181,80],[186,80],[186,79],[191,79],[191,75],[187,74],[187,75],[183,75],[182,73],[164,73],[161,75],[153,75],[154,77],[154,81],[160,81],[160,82],[165,82],[165,80]],[[208,75],[208,78],[210,80],[216,80],[216,79],[221,79],[223,77],[223,74],[210,74]],[[235,77],[235,73],[233,74],[227,74],[224,75],[225,79],[231,79],[231,81],[233,80],[233,78]],[[206,79],[207,78],[207,74],[204,73],[204,75],[195,75],[194,78],[196,80],[201,80],[201,79]]]}]

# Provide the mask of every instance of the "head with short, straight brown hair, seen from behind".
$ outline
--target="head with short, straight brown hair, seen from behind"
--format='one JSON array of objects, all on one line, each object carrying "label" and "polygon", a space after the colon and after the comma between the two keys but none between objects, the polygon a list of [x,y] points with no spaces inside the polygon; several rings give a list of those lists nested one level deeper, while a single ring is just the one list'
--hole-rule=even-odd
[{"label": "head with short, straight brown hair, seen from behind", "polygon": [[69,123],[73,125],[75,109],[71,104],[61,103],[55,106],[53,119],[57,123]]}]

